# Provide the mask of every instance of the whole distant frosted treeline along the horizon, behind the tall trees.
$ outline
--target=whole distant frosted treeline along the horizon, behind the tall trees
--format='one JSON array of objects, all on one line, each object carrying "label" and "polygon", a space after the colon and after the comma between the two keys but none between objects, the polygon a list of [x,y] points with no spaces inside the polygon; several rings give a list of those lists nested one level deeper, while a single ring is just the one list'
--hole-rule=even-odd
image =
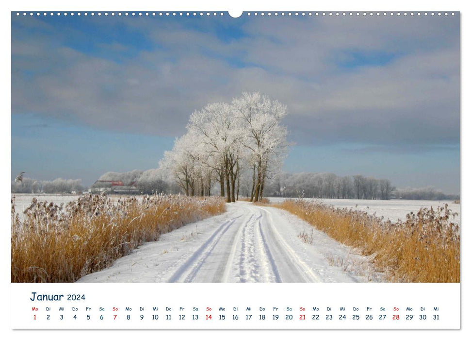
[{"label": "whole distant frosted treeline along the horizon, behind the tall trees", "polygon": [[[122,181],[124,185],[134,183],[143,194],[183,193],[167,171],[150,169],[128,172],[106,172],[99,180]],[[239,184],[240,194],[250,197],[250,176],[242,176]],[[306,197],[306,198],[343,198],[367,200],[455,200],[459,195],[444,194],[433,187],[396,188],[387,179],[376,179],[362,175],[337,176],[333,173],[279,173],[268,179],[265,184],[265,197]],[[80,193],[86,190],[80,179],[57,178],[53,181],[38,181],[23,178],[20,183],[12,182],[12,193]],[[219,186],[211,189],[213,195],[220,194]]]}]

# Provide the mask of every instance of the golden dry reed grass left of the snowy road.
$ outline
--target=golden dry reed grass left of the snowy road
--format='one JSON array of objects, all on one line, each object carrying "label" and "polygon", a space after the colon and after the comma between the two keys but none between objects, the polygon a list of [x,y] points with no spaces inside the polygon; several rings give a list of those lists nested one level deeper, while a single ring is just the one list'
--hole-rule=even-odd
[{"label": "golden dry reed grass left of the snowy road", "polygon": [[20,218],[12,199],[11,280],[74,282],[144,242],[225,209],[218,197],[153,195],[114,203],[87,195],[59,206],[33,199]]}]

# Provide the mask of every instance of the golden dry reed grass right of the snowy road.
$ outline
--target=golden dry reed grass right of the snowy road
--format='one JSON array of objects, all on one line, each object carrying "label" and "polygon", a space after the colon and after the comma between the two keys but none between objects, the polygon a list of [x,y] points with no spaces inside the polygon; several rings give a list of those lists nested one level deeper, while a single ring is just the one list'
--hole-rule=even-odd
[{"label": "golden dry reed grass right of the snowy road", "polygon": [[[373,255],[391,282],[459,282],[459,226],[448,205],[422,208],[406,221],[383,221],[356,210],[305,200],[275,204],[308,221],[331,238]],[[306,234],[306,233],[305,233]],[[307,236],[307,234],[305,235]],[[300,236],[302,237],[302,236]]]}]

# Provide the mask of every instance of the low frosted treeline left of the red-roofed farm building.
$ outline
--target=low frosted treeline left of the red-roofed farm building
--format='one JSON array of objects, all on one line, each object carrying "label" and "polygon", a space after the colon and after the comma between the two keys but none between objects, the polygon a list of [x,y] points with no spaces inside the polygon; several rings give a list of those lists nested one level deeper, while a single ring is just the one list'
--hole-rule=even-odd
[{"label": "low frosted treeline left of the red-roofed farm building", "polygon": [[12,182],[12,193],[81,193],[85,189],[81,182],[81,179],[56,178],[53,181],[39,181],[23,177],[20,182]]}]

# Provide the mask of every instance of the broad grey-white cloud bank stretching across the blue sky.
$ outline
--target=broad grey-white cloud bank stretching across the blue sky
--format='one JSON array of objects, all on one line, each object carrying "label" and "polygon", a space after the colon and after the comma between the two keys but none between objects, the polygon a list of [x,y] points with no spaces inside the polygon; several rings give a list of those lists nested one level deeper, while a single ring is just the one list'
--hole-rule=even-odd
[{"label": "broad grey-white cloud bank stretching across the blue sky", "polygon": [[[111,54],[105,58],[66,47],[73,44],[65,46],[61,32],[63,40],[34,22],[42,35],[13,30],[14,114],[173,136],[205,103],[258,90],[288,105],[287,124],[300,143],[459,139],[456,18],[256,18],[240,27],[245,36],[228,41],[211,25],[130,20],[155,49],[122,61],[112,58],[125,51],[122,43],[97,44]],[[339,67],[352,53],[392,60]]]}]

